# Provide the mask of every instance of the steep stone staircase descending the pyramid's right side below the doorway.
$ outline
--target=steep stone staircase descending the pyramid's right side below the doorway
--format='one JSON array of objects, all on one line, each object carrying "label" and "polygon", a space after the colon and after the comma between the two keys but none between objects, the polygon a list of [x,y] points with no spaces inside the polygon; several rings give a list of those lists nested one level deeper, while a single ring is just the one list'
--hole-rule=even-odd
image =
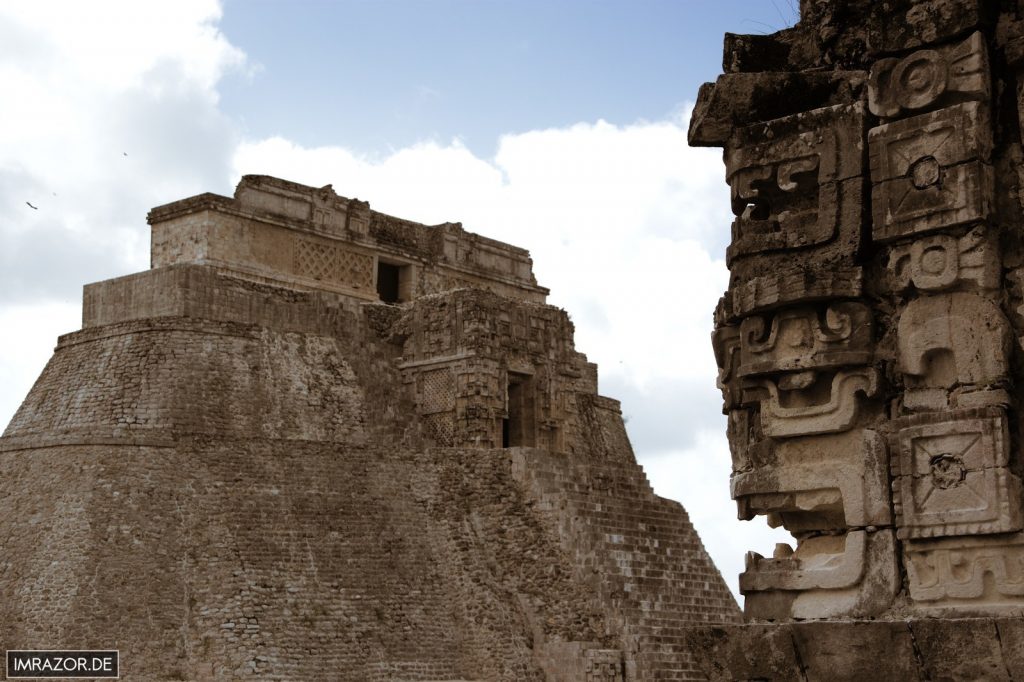
[{"label": "steep stone staircase descending the pyramid's right side below the doorway", "polygon": [[682,506],[654,495],[632,461],[515,449],[513,472],[606,604],[626,679],[705,679],[685,629],[738,623],[739,610]]}]

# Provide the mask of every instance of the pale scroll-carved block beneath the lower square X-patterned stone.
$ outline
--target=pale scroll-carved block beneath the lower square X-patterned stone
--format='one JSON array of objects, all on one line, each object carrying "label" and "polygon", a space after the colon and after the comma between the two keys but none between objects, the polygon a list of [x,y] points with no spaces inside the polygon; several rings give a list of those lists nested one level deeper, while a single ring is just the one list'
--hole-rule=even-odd
[{"label": "pale scroll-carved block beneath the lower square X-patterned stone", "polygon": [[908,543],[903,552],[910,598],[915,602],[953,602],[926,604],[931,606],[1002,602],[1020,608],[1024,597],[1024,539],[1020,536]]}]

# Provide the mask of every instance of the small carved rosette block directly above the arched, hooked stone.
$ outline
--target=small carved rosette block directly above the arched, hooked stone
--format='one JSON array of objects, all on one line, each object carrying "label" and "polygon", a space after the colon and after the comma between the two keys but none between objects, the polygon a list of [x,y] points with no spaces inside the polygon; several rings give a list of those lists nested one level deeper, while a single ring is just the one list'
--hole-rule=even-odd
[{"label": "small carved rosette block directly above the arched, hooked stone", "polygon": [[999,286],[998,245],[994,230],[977,226],[964,237],[931,235],[893,246],[889,272],[894,291],[943,291],[958,284],[978,289]]}]

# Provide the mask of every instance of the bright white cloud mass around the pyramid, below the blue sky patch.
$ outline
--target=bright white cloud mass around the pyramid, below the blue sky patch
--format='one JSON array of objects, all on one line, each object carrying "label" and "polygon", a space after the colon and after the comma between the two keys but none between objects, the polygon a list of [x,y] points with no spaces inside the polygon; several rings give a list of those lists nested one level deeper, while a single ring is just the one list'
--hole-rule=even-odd
[{"label": "bright white cloud mass around the pyramid, below the blue sky patch", "polygon": [[243,142],[218,108],[220,79],[246,68],[220,11],[214,0],[0,6],[0,426],[56,335],[78,327],[81,286],[147,266],[150,208],[229,193],[248,172],[330,182],[377,210],[531,249],[602,391],[623,398],[655,489],[683,501],[735,573],[758,534],[731,520],[709,341],[731,216],[719,154],[686,145],[687,114],[507,135],[494,159],[458,140],[380,159]]}]

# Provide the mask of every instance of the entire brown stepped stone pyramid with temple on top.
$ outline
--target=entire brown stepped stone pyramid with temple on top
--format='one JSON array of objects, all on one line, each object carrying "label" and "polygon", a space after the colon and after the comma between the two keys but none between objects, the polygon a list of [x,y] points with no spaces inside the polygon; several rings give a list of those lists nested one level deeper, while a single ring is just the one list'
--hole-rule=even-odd
[{"label": "entire brown stepped stone pyramid with temple on top", "polygon": [[0,437],[0,648],[117,648],[127,680],[703,677],[687,629],[739,610],[526,251],[264,176],[148,220],[152,269],[85,288]]}]

